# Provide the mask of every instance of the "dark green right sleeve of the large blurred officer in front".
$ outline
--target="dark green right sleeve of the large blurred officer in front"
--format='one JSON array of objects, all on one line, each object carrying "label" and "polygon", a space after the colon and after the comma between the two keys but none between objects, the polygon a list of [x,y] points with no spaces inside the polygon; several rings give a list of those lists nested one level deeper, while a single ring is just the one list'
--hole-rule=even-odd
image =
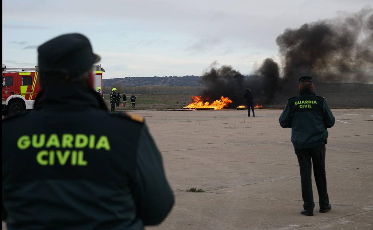
[{"label": "dark green right sleeve of the large blurred officer in front", "polygon": [[163,170],[162,157],[147,126],[140,133],[137,157],[138,214],[145,225],[161,223],[174,197]]}]

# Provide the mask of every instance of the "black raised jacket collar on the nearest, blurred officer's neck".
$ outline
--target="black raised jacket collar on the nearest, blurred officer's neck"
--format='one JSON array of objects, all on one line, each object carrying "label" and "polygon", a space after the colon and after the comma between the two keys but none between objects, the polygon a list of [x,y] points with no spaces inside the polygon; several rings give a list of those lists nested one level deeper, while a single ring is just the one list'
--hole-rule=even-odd
[{"label": "black raised jacket collar on the nearest, blurred officer's neck", "polygon": [[35,110],[86,110],[88,107],[106,110],[102,98],[88,86],[46,86],[39,92]]}]

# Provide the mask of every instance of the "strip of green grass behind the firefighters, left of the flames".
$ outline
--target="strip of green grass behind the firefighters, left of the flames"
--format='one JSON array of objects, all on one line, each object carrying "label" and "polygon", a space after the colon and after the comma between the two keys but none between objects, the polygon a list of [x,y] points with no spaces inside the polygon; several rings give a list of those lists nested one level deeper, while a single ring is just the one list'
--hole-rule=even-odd
[{"label": "strip of green grass behind the firefighters, left of the flames", "polygon": [[[135,94],[136,108],[131,107],[131,95],[127,96],[126,106],[120,106],[115,110],[146,110],[146,109],[181,109],[191,103],[191,96],[189,94]],[[107,108],[110,110],[110,95],[104,95],[104,101]]]}]

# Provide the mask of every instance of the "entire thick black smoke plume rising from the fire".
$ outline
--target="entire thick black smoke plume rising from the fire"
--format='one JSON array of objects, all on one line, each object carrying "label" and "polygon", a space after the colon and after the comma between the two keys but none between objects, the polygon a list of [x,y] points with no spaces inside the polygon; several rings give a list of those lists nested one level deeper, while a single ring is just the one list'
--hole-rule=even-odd
[{"label": "entire thick black smoke plume rising from the fire", "polygon": [[[306,23],[285,29],[276,38],[282,71],[272,59],[264,60],[251,76],[242,76],[231,66],[212,67],[203,75],[202,96],[208,101],[221,95],[233,104],[244,104],[245,88],[251,88],[259,104],[283,103],[295,96],[298,78],[314,77],[321,86],[326,82],[369,83],[373,81],[373,8],[353,15]],[[281,72],[281,76],[280,76]]]}]

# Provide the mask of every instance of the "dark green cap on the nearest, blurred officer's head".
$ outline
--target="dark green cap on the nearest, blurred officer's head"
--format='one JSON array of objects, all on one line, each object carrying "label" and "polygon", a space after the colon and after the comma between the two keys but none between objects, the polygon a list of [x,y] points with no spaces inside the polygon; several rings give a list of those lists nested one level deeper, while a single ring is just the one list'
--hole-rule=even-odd
[{"label": "dark green cap on the nearest, blurred officer's head", "polygon": [[91,43],[82,34],[64,34],[38,47],[39,71],[67,72],[71,75],[84,73],[98,62]]}]

